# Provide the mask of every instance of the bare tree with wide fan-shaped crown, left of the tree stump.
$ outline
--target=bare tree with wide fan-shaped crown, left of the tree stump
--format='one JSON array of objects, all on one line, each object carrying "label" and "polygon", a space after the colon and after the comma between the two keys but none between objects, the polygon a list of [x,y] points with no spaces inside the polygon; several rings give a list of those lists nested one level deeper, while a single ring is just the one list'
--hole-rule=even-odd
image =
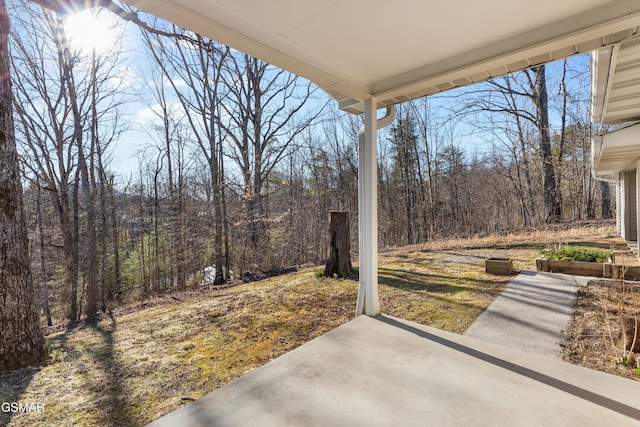
[{"label": "bare tree with wide fan-shaped crown, left of the tree stump", "polygon": [[314,86],[246,54],[229,55],[223,76],[229,91],[221,124],[233,141],[230,156],[242,173],[246,243],[256,250],[265,237],[265,185],[287,149],[322,112],[304,113]]}]

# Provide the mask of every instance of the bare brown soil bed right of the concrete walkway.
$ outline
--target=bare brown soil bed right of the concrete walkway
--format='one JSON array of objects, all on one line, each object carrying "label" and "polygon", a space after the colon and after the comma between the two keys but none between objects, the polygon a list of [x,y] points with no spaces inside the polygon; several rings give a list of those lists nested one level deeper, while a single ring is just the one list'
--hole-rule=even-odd
[{"label": "bare brown soil bed right of the concrete walkway", "polygon": [[564,359],[640,381],[639,317],[640,283],[592,280],[578,293]]}]

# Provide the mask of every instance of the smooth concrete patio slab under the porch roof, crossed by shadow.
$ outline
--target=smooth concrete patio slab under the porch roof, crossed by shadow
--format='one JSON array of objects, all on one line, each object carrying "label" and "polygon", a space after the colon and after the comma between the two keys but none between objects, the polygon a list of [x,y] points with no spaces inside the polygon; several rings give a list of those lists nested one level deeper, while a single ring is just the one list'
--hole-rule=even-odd
[{"label": "smooth concrete patio slab under the porch roof, crossed by shadow", "polygon": [[628,379],[360,316],[151,426],[640,426],[639,395]]}]

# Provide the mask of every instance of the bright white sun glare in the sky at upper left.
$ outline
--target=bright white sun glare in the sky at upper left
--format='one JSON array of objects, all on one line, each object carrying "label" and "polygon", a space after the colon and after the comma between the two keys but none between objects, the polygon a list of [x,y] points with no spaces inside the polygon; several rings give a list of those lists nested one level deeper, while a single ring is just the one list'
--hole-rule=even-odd
[{"label": "bright white sun glare in the sky at upper left", "polygon": [[99,13],[94,10],[83,10],[68,15],[65,21],[65,31],[69,44],[73,49],[83,53],[106,51],[116,42],[116,30],[110,14]]}]

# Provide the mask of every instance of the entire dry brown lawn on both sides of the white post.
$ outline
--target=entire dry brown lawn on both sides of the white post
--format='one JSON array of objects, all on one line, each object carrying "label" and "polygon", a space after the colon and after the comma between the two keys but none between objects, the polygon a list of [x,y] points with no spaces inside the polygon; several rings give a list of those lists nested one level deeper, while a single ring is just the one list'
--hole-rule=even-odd
[{"label": "entire dry brown lawn on both sides of the white post", "polygon": [[[558,239],[593,242],[611,226],[458,239],[380,256],[382,310],[463,332],[510,280],[485,256],[532,268]],[[353,317],[357,283],[311,270],[174,301],[52,333],[53,360],[0,376],[0,402],[38,401],[44,413],[0,413],[12,426],[144,425]],[[4,417],[4,418],[3,418]]]}]

